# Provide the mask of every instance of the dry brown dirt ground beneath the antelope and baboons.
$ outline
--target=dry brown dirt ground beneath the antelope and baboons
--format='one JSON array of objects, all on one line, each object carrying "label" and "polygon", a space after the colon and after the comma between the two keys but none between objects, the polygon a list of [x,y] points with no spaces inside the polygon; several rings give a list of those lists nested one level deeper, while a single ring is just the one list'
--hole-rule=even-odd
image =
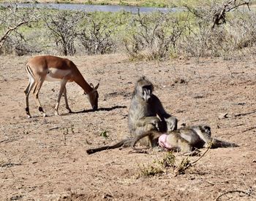
[{"label": "dry brown dirt ground beneath the antelope and baboons", "polygon": [[[70,57],[88,82],[100,82],[99,111],[91,112],[83,90],[69,83],[69,106],[75,112],[67,114],[62,98],[61,116],[54,116],[59,83],[45,82],[39,98],[48,117],[39,117],[31,95],[33,118],[27,119],[23,90],[28,59],[0,60],[0,200],[256,199],[254,59],[203,59],[196,66],[195,60],[184,59],[130,62],[118,54]],[[149,167],[165,156],[156,150],[139,154],[127,148],[87,155],[86,149],[129,134],[129,103],[142,75],[155,84],[155,94],[179,119],[178,126],[206,123],[215,137],[239,147],[210,149],[178,176],[172,170],[140,176],[142,165]]]}]

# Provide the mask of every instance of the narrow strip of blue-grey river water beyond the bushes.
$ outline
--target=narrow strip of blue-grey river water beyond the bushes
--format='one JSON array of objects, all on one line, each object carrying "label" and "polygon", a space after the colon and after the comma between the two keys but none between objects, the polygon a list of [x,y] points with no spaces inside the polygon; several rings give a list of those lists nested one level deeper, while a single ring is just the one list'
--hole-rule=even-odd
[{"label": "narrow strip of blue-grey river water beyond the bushes", "polygon": [[[10,3],[2,3],[0,6],[8,7]],[[146,13],[146,12],[177,12],[176,8],[156,8],[156,7],[132,7],[119,5],[89,5],[89,4],[17,4],[18,8],[48,8],[48,9],[65,9],[77,10],[83,12],[131,12],[131,13]]]}]

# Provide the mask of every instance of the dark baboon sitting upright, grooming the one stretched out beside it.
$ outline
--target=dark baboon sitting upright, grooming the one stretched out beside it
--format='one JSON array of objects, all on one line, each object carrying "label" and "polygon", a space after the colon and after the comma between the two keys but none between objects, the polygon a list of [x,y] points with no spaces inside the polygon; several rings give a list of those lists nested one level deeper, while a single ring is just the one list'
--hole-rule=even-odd
[{"label": "dark baboon sitting upright, grooming the one stretched out beside it", "polygon": [[144,146],[158,146],[158,138],[168,130],[176,130],[178,120],[176,117],[167,114],[161,101],[156,95],[152,94],[153,84],[144,76],[135,85],[132,95],[131,106],[129,107],[128,126],[132,134],[130,138],[124,139],[113,146],[103,146],[96,149],[88,149],[88,154],[106,149],[116,149],[121,146],[131,146],[134,137],[138,135],[147,136],[140,143]]}]

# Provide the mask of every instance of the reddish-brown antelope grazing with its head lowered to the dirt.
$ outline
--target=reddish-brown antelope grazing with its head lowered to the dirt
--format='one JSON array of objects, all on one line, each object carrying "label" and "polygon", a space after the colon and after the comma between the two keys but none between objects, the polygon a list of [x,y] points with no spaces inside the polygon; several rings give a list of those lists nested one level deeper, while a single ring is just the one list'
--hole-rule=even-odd
[{"label": "reddish-brown antelope grazing with its head lowered to the dirt", "polygon": [[61,81],[61,89],[59,90],[59,97],[55,106],[56,115],[59,115],[59,101],[61,100],[61,95],[63,93],[66,109],[69,112],[72,112],[67,103],[67,82],[75,82],[82,87],[84,94],[88,95],[92,108],[98,109],[99,94],[97,92],[97,88],[99,87],[99,84],[97,84],[96,87],[94,87],[92,84],[88,84],[83,78],[82,74],[80,74],[77,66],[75,66],[71,60],[50,55],[37,56],[31,58],[29,62],[26,63],[26,72],[29,75],[29,84],[26,87],[26,90],[24,90],[24,93],[26,95],[26,114],[29,118],[31,117],[29,113],[29,93],[33,87],[33,94],[37,102],[39,112],[43,115],[43,117],[46,116],[38,98],[39,90],[45,80],[48,82]]}]

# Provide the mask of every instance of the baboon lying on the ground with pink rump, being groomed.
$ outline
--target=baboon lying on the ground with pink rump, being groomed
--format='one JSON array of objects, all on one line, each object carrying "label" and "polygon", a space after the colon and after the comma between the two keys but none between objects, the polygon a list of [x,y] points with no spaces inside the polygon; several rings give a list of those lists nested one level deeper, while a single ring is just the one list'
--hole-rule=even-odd
[{"label": "baboon lying on the ground with pink rump, being groomed", "polygon": [[[135,149],[135,144],[146,136],[146,133],[138,135],[132,142],[132,148]],[[211,146],[211,148],[236,147],[238,145],[211,138],[211,127],[208,125],[197,125],[183,127],[179,130],[168,132],[168,134],[162,134],[159,136],[159,146],[169,151],[181,151],[184,154],[189,154],[195,148],[200,149],[207,146]]]}]

